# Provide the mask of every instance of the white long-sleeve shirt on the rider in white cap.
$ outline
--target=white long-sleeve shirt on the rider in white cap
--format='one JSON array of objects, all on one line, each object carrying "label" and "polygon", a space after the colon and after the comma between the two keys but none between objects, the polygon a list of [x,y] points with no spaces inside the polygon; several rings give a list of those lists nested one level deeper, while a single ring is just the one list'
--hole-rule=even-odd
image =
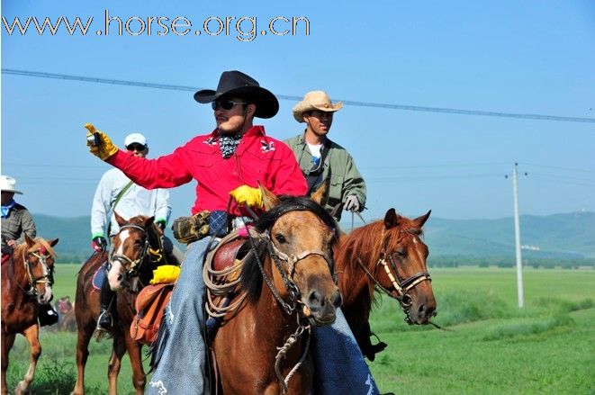
[{"label": "white long-sleeve shirt on the rider in white cap", "polygon": [[[97,185],[93,208],[91,209],[91,234],[92,238],[107,234],[108,218],[111,220],[110,235],[118,233],[120,227],[113,215],[112,206],[118,194],[130,183],[131,180],[121,170],[113,168],[104,173]],[[169,220],[171,206],[169,205],[169,192],[167,189],[148,190],[137,184],[122,195],[115,207],[115,211],[124,220],[137,215],[155,216],[155,220]]]}]

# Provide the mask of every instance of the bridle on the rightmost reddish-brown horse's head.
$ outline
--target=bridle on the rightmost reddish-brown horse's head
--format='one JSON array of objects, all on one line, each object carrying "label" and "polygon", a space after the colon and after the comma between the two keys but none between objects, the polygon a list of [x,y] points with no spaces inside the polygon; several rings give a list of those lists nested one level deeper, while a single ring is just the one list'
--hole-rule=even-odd
[{"label": "bridle on the rightmost reddish-brown horse's head", "polygon": [[[401,231],[407,232],[406,230],[401,230]],[[407,232],[407,233],[410,233],[410,232]],[[423,272],[413,274],[406,279],[401,279],[401,276],[399,275],[399,271],[397,270],[397,265],[394,262],[393,253],[388,253],[388,254],[386,253],[386,247],[385,247],[386,244],[387,244],[387,240],[383,241],[383,248],[380,251],[380,257],[378,258],[378,261],[376,262],[375,266],[383,265],[384,272],[386,273],[389,280],[391,281],[392,289],[384,288],[383,285],[374,277],[374,274],[370,273],[370,271],[367,269],[367,267],[365,267],[365,265],[362,263],[362,260],[359,257],[357,257],[357,264],[362,267],[365,274],[367,274],[367,276],[370,277],[370,279],[372,279],[372,281],[374,282],[374,285],[380,291],[384,292],[385,294],[390,296],[392,299],[399,301],[399,304],[401,305],[401,309],[406,313],[405,321],[411,325],[412,321],[410,320],[410,316],[409,316],[409,309],[411,306],[411,297],[410,297],[409,292],[413,288],[415,288],[419,283],[423,283],[425,281],[431,282],[432,278],[430,277],[430,275],[428,274],[427,271],[423,271]],[[387,258],[388,258],[388,262],[387,262]],[[395,296],[395,293],[396,293],[396,296]]]}]

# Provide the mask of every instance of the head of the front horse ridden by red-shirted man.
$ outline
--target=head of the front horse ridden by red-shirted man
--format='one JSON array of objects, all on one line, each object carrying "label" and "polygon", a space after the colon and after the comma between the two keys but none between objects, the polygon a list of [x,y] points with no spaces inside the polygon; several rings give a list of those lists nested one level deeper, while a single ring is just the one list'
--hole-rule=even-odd
[{"label": "head of the front horse ridden by red-shirted man", "polygon": [[[255,222],[255,228],[260,234],[259,247],[267,252],[272,264],[264,271],[265,277],[271,277],[271,292],[276,293],[275,298],[287,314],[298,310],[314,325],[331,324],[342,302],[332,277],[335,220],[320,206],[318,195],[312,200],[278,198],[263,186],[261,190],[266,212]],[[245,270],[254,270],[250,266],[255,265],[245,265]],[[242,274],[242,280],[246,278],[249,276]],[[248,288],[248,296],[254,296],[262,281],[246,281],[243,285]]]}]

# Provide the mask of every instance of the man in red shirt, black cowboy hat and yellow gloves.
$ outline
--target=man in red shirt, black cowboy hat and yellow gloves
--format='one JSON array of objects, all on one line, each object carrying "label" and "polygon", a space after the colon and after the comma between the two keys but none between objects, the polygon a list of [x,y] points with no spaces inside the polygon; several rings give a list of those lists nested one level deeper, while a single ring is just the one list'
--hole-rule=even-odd
[{"label": "man in red shirt, black cowboy hat and yellow gloves", "polygon": [[[226,71],[221,74],[216,90],[198,91],[194,100],[211,103],[216,128],[209,134],[194,137],[169,155],[158,159],[134,157],[113,145],[105,133],[86,124],[89,130],[87,137],[98,133],[101,140],[90,150],[95,156],[120,168],[136,184],[148,189],[172,188],[194,179],[197,185],[192,213],[209,211],[209,231],[217,236],[221,236],[221,229],[213,219],[218,219],[222,211],[227,211],[228,204],[230,215],[234,217],[248,216],[244,205],[257,211],[261,209],[258,182],[277,195],[302,196],[307,193],[306,181],[292,150],[283,142],[267,136],[263,126],[253,124],[255,117],[267,119],[275,116],[279,103],[274,94],[244,73]],[[230,195],[235,202],[230,202]],[[164,314],[167,319],[159,329],[155,345],[157,355],[154,355],[157,368],[146,393],[205,393],[202,262],[211,238],[201,237],[199,235],[197,240],[188,244],[181,274]],[[347,327],[344,318],[343,323],[344,328]],[[334,347],[336,343],[328,346]],[[353,336],[351,344],[356,347]],[[330,348],[326,355],[333,350]],[[370,381],[371,376],[361,353],[358,357],[365,366],[364,380]],[[343,371],[341,366],[340,372]],[[339,379],[338,373],[334,376],[338,381],[348,382]]]}]

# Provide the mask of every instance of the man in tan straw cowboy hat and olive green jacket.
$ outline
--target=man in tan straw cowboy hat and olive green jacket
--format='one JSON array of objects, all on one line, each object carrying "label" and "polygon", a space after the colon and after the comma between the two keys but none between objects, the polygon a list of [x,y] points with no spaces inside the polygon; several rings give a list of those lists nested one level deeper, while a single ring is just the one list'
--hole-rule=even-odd
[{"label": "man in tan straw cowboy hat and olive green jacket", "polygon": [[308,182],[309,193],[329,180],[329,201],[326,209],[337,220],[341,211],[359,212],[365,206],[365,181],[347,150],[328,137],[333,114],[343,103],[331,103],[324,91],[305,94],[293,107],[293,118],[306,123],[306,130],[285,142],[292,148]]}]

